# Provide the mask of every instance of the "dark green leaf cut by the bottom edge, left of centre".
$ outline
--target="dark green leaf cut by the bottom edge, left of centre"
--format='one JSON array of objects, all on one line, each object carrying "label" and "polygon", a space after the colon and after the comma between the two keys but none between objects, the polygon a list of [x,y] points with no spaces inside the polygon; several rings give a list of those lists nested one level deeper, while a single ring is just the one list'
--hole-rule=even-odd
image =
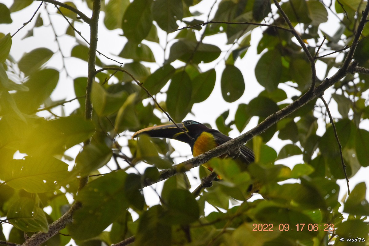
[{"label": "dark green leaf cut by the bottom edge, left of centre", "polygon": [[169,225],[161,222],[164,214],[161,205],[155,205],[139,218],[135,244],[140,246],[170,246],[172,231]]}]

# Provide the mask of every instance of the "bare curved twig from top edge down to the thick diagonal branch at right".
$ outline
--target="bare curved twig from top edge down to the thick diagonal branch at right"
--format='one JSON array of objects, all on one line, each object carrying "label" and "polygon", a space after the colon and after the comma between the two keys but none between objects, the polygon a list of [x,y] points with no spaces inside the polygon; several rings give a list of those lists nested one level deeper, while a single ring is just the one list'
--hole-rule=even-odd
[{"label": "bare curved twig from top edge down to the thick diagonal branch at right", "polygon": [[311,69],[311,85],[310,88],[308,90],[309,93],[311,93],[312,91],[314,91],[315,88],[315,84],[317,82],[317,74],[316,74],[316,70],[315,70],[315,61],[313,56],[311,56],[309,50],[307,49],[305,42],[302,40],[302,38],[300,37],[300,35],[297,33],[297,31],[295,30],[295,28],[293,27],[291,21],[289,20],[289,18],[287,17],[286,13],[284,13],[284,11],[282,10],[282,7],[280,7],[279,3],[277,0],[273,0],[275,6],[278,8],[280,14],[282,15],[284,21],[286,21],[286,23],[288,24],[288,26],[291,29],[292,34],[295,36],[295,38],[297,39],[297,41],[299,42],[301,48],[304,50],[307,59],[310,62],[310,69]]}]

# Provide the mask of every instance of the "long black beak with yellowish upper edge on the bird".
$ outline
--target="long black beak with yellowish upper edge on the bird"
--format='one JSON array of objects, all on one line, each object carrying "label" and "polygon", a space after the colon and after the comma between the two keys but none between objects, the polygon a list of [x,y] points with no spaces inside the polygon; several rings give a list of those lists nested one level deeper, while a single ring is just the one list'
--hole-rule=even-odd
[{"label": "long black beak with yellowish upper edge on the bird", "polygon": [[183,132],[188,132],[187,128],[184,127],[183,123],[169,125],[158,125],[155,127],[148,127],[135,132],[132,135],[132,139],[137,138],[141,134],[146,134],[152,138],[172,138],[185,143],[189,143],[189,137]]}]

